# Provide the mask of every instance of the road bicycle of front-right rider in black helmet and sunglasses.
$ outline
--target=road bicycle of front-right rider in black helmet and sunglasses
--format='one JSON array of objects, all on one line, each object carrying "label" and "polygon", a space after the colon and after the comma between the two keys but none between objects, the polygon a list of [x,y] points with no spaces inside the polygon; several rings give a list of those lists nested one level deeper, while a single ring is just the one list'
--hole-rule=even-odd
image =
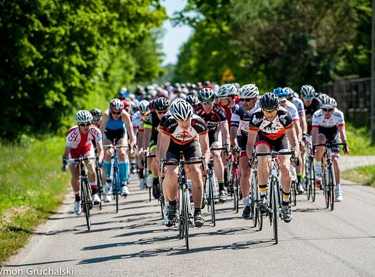
[{"label": "road bicycle of front-right rider in black helmet and sunglasses", "polygon": [[[258,152],[255,154],[255,157],[261,156],[269,156],[271,157],[271,173],[268,178],[269,190],[268,190],[268,203],[267,203],[267,210],[265,212],[265,216],[269,217],[269,225],[273,225],[274,230],[274,240],[275,244],[278,244],[278,217],[281,220],[284,220],[283,213],[281,213],[281,188],[279,179],[279,170],[278,170],[278,163],[277,157],[280,155],[292,155],[291,159],[299,164],[297,157],[294,155],[294,149],[292,148],[290,151],[285,152],[276,152],[272,150],[271,152]],[[251,161],[253,163],[253,161]]]}]

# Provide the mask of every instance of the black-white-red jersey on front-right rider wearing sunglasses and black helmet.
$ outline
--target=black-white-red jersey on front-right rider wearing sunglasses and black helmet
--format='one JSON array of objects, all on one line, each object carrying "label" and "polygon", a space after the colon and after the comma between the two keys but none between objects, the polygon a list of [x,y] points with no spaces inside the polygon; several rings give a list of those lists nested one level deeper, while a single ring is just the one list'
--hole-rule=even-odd
[{"label": "black-white-red jersey on front-right rider wearing sunglasses and black helmet", "polygon": [[281,139],[285,136],[285,129],[293,127],[293,120],[290,114],[283,107],[279,107],[276,117],[268,121],[262,109],[257,109],[250,118],[249,130],[257,131],[271,140]]}]

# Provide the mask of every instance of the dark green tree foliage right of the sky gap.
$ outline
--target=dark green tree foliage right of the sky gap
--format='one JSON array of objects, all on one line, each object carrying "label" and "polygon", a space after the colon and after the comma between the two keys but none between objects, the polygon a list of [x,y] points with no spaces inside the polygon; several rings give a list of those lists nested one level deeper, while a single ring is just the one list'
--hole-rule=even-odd
[{"label": "dark green tree foliage right of the sky gap", "polygon": [[175,15],[194,28],[176,78],[219,82],[229,68],[236,81],[265,91],[367,77],[371,15],[368,0],[190,0]]}]

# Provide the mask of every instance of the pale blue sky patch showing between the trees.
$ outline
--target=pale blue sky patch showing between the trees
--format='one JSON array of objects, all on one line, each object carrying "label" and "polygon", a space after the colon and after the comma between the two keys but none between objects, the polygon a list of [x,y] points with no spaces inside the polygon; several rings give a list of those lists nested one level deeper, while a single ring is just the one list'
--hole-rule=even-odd
[{"label": "pale blue sky patch showing between the trees", "polygon": [[[167,10],[167,15],[172,16],[177,10],[182,10],[187,1],[186,0],[165,0],[160,2]],[[163,52],[165,53],[165,60],[163,65],[176,64],[178,48],[186,42],[192,33],[192,28],[188,26],[172,27],[169,20],[163,24],[165,35],[162,39]]]}]

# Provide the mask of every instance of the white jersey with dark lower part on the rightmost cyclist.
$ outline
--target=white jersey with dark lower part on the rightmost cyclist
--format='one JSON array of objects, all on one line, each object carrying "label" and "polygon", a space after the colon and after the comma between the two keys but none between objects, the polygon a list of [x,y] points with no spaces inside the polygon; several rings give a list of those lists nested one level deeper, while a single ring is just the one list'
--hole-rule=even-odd
[{"label": "white jersey with dark lower part on the rightmost cyclist", "polygon": [[322,109],[315,111],[313,115],[313,128],[319,128],[319,133],[324,134],[328,141],[333,141],[338,135],[338,127],[345,126],[344,114],[335,109],[330,118],[325,118]]}]

